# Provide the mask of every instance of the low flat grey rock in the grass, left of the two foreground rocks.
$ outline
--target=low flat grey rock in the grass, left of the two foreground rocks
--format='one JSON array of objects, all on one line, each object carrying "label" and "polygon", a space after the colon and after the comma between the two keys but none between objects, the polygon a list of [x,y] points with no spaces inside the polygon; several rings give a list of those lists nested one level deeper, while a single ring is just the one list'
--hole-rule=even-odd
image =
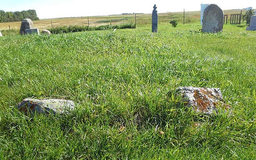
[{"label": "low flat grey rock in the grass, left of the two foreground rocks", "polygon": [[26,98],[18,103],[17,109],[25,115],[35,114],[67,114],[75,108],[75,103],[70,100],[59,99],[33,99]]}]

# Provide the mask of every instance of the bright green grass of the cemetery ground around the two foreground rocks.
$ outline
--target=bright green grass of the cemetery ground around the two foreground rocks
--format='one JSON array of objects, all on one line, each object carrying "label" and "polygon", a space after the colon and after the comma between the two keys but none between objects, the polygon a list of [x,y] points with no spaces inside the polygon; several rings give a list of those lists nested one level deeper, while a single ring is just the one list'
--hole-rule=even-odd
[{"label": "bright green grass of the cemetery ground around the two foreground rocks", "polygon": [[[199,29],[0,37],[0,159],[256,159],[256,32]],[[179,86],[220,88],[232,114],[177,105]],[[77,108],[27,117],[28,97]]]}]

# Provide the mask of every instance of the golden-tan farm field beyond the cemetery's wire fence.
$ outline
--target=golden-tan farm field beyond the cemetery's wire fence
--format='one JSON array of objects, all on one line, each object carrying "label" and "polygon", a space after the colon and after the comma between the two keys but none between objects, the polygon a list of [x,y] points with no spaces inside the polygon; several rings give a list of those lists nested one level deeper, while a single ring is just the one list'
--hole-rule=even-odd
[{"label": "golden-tan farm field beyond the cemetery's wire fence", "polygon": [[[228,20],[230,19],[230,14],[240,14],[241,10],[224,10],[224,14],[228,15]],[[242,13],[245,13],[246,10],[242,10]],[[151,14],[137,14],[137,24],[144,25],[151,23]],[[159,23],[169,23],[171,19],[178,19],[180,23],[183,23],[183,12],[168,12],[168,13],[159,13]],[[91,16],[89,17],[89,26],[100,26],[110,24],[127,24],[135,23],[135,15],[112,15],[112,16]],[[185,23],[193,23],[200,21],[200,11],[194,12],[185,12]],[[33,21],[34,27],[39,28],[39,30],[45,30],[51,28],[51,22],[53,27],[57,26],[87,26],[88,21],[87,17],[74,17],[74,18],[54,18],[54,19],[42,19]],[[228,22],[229,23],[229,22]],[[20,29],[21,22],[4,22],[0,23],[0,30],[11,29],[17,30]]]}]

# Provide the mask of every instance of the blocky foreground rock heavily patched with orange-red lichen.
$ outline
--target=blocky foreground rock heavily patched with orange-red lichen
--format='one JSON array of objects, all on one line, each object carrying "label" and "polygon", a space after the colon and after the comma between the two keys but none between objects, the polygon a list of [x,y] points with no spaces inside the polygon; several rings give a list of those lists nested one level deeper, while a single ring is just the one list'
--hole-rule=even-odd
[{"label": "blocky foreground rock heavily patched with orange-red lichen", "polygon": [[192,107],[195,112],[218,114],[219,110],[230,110],[231,106],[223,102],[219,88],[179,87],[177,93],[182,95],[182,102]]}]

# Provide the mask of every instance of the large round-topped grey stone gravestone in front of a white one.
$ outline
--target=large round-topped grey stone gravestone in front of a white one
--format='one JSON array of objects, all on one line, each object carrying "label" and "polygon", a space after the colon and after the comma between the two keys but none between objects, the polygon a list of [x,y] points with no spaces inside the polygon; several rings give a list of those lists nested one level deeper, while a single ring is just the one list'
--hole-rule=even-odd
[{"label": "large round-topped grey stone gravestone in front of a white one", "polygon": [[216,4],[210,4],[203,11],[202,31],[208,33],[216,33],[223,30],[223,10]]}]

